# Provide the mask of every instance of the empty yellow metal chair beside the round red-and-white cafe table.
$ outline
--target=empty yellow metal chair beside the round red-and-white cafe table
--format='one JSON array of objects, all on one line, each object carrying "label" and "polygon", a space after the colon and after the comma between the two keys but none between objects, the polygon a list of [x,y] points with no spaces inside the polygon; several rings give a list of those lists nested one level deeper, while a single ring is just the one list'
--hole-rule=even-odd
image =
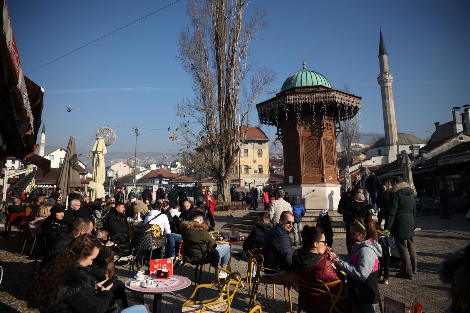
[{"label": "empty yellow metal chair beside the round red-and-white cafe table", "polygon": [[[197,285],[188,300],[183,303],[181,307],[182,313],[230,312],[232,300],[235,296],[238,284],[242,281],[242,276],[237,272],[230,273],[222,267],[219,267],[216,273],[219,273],[219,271],[226,272],[228,274],[227,278],[221,282],[219,276],[216,275],[216,279],[212,283]],[[217,287],[219,289],[217,297],[207,300],[193,300],[199,289],[211,287]]]}]

